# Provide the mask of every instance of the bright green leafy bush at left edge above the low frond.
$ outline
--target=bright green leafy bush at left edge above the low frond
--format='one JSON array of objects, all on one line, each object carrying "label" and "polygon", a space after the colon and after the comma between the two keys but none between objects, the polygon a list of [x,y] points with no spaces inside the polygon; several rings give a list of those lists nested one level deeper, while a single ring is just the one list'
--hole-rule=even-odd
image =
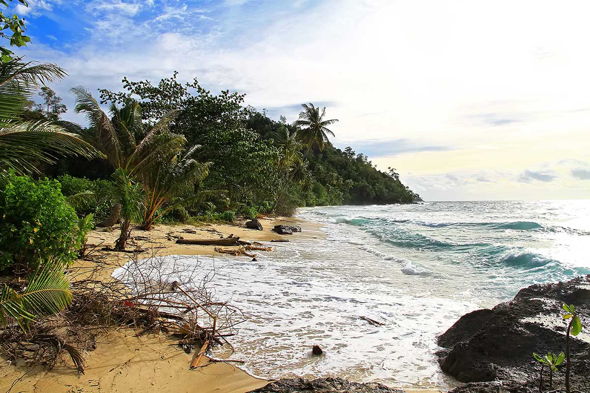
[{"label": "bright green leafy bush at left edge above the low frond", "polygon": [[87,230],[77,223],[58,181],[7,173],[0,178],[0,269],[50,257],[71,263]]}]

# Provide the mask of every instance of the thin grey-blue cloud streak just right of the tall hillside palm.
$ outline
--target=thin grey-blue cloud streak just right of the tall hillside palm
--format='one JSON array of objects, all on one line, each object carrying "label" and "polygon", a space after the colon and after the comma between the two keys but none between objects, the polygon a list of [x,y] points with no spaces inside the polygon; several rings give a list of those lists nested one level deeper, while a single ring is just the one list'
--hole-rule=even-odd
[{"label": "thin grey-blue cloud streak just right of the tall hillside palm", "polygon": [[[344,146],[345,142],[336,143],[337,146]],[[419,151],[442,151],[453,150],[450,146],[436,146],[407,138],[394,140],[373,140],[373,141],[351,141],[348,146],[358,153],[363,153],[371,158],[396,157],[399,154],[416,153]]]}]

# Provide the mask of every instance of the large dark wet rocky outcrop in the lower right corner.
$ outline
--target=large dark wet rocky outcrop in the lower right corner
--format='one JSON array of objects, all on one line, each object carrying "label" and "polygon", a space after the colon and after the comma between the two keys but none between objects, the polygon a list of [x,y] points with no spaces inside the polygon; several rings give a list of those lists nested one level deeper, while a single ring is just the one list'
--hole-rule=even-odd
[{"label": "large dark wet rocky outcrop in the lower right corner", "polygon": [[[575,305],[585,325],[585,331],[572,338],[571,346],[572,381],[574,385],[581,383],[590,378],[590,275],[532,285],[491,310],[462,316],[438,338],[438,344],[445,348],[437,353],[441,368],[461,382],[496,381],[473,385],[470,392],[484,392],[487,388],[497,392],[497,381],[520,381],[503,385],[502,389],[525,392],[526,385],[534,386],[539,378],[532,352],[565,350],[567,325],[561,318],[562,302]],[[556,373],[554,379],[554,385],[561,384],[563,373]],[[467,392],[461,389],[454,392]]]}]

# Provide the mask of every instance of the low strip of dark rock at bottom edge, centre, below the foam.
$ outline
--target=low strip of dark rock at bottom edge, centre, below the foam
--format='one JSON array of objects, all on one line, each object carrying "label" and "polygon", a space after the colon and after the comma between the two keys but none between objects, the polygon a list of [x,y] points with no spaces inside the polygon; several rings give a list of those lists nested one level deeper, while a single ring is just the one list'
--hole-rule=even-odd
[{"label": "low strip of dark rock at bottom edge, centre, below the foam", "polygon": [[382,384],[358,384],[342,378],[280,379],[250,393],[404,393]]}]

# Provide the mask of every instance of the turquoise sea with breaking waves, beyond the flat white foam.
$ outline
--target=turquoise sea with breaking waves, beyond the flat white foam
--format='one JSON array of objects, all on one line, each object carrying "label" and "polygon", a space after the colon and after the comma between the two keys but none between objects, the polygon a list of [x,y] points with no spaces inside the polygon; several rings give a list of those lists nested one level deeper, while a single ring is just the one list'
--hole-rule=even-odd
[{"label": "turquoise sea with breaking waves, beyond the flat white foam", "polygon": [[362,243],[407,275],[483,292],[481,300],[590,274],[588,200],[337,206],[300,214],[326,224],[331,240]]}]

